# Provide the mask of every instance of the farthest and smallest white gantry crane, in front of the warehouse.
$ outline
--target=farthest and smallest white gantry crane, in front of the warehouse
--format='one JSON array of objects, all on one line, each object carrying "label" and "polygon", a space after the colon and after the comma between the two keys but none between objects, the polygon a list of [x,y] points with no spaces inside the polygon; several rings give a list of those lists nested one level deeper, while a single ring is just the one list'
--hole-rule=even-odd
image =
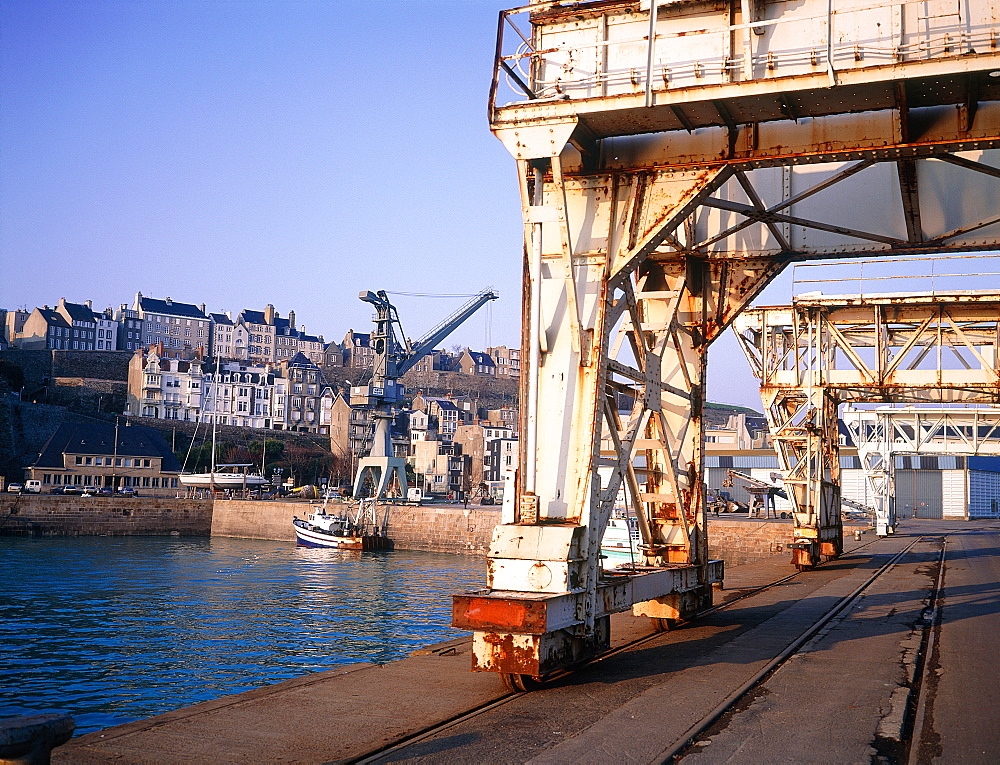
[{"label": "farthest and smallest white gantry crane, in front of the warehouse", "polygon": [[876,498],[876,532],[896,525],[897,454],[1000,454],[1000,408],[878,407],[844,411],[865,480]]}]

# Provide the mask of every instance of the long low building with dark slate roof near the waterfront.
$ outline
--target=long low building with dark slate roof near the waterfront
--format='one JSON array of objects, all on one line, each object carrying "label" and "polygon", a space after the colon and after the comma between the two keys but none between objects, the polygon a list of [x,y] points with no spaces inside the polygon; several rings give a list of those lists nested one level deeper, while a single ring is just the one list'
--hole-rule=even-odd
[{"label": "long low building with dark slate roof near the waterfront", "polygon": [[130,487],[143,496],[173,497],[181,465],[157,431],[138,425],[63,423],[45,444],[28,479],[42,491],[62,486]]}]

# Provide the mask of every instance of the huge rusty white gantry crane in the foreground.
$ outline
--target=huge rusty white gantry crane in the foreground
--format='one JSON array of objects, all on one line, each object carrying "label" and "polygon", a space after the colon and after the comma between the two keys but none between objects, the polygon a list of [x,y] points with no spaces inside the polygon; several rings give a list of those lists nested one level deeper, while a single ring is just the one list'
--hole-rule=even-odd
[{"label": "huge rusty white gantry crane in the foreground", "polygon": [[[455,600],[474,669],[527,687],[605,649],[613,611],[668,625],[710,602],[706,352],[786,264],[997,248],[998,19],[1000,0],[501,13],[490,124],[520,180],[526,373],[516,502],[488,589]],[[646,567],[608,576],[622,486]],[[838,555],[839,513],[807,521],[810,560]]]}]

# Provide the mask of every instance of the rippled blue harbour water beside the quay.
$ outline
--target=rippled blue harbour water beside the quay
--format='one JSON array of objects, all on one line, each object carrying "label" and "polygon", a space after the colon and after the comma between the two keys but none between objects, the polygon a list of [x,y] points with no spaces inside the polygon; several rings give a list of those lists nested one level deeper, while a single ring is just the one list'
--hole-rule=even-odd
[{"label": "rippled blue harbour water beside the quay", "polygon": [[77,734],[462,634],[480,558],[186,537],[0,538],[0,716]]}]

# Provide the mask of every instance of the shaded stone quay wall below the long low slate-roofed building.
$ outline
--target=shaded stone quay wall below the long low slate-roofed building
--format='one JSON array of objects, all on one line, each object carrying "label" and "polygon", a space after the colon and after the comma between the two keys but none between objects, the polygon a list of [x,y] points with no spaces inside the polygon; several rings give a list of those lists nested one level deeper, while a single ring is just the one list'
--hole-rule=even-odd
[{"label": "shaded stone quay wall below the long low slate-roofed building", "polygon": [[159,497],[0,497],[0,536],[208,536],[211,500]]}]

